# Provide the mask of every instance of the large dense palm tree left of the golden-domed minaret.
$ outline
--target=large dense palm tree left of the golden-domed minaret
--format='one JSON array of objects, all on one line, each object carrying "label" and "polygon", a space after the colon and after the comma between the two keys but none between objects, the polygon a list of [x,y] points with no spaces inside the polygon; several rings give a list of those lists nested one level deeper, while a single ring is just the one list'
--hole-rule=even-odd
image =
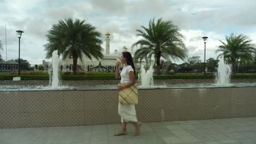
[{"label": "large dense palm tree left of the golden-domed minaret", "polygon": [[82,54],[92,60],[103,57],[101,47],[101,33],[96,31],[96,27],[76,19],[71,18],[60,20],[54,24],[46,35],[48,44],[45,44],[46,58],[52,56],[53,51],[58,50],[62,58],[73,58],[73,73],[77,72],[77,59],[82,61]]}]

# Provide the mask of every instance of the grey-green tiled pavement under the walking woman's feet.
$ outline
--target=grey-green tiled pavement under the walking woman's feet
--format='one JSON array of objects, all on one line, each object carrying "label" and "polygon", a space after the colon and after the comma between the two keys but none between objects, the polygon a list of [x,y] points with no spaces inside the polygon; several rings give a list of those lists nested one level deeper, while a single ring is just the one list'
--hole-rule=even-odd
[{"label": "grey-green tiled pavement under the walking woman's feet", "polygon": [[0,143],[256,143],[256,117],[143,123],[139,136],[131,124],[125,136],[113,136],[118,130],[120,124],[0,129]]}]

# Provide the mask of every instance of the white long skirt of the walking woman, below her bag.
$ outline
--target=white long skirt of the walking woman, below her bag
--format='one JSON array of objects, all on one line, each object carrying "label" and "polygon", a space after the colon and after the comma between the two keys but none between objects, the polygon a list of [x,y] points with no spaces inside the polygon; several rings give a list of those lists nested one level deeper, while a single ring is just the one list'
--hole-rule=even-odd
[{"label": "white long skirt of the walking woman, below her bag", "polygon": [[121,122],[138,122],[136,116],[135,105],[120,105],[118,104],[118,114],[121,117]]}]

